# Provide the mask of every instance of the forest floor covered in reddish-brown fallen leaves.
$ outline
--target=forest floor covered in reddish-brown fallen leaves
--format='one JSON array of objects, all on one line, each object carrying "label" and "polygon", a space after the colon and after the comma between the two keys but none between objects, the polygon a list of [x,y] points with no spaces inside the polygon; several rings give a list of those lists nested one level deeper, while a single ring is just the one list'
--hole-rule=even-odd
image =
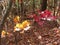
[{"label": "forest floor covered in reddish-brown fallen leaves", "polygon": [[43,27],[33,24],[24,33],[12,32],[1,40],[2,45],[60,45],[60,29],[46,21]]}]

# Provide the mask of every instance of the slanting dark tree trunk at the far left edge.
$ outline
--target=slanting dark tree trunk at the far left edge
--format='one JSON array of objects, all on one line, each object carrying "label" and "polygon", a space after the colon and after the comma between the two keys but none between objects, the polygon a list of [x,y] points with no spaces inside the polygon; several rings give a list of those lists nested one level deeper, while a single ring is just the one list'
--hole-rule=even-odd
[{"label": "slanting dark tree trunk at the far left edge", "polygon": [[11,9],[11,6],[12,6],[12,0],[9,0],[9,4],[8,4],[7,9],[6,9],[6,12],[5,12],[5,14],[3,14],[3,17],[0,21],[0,44],[1,44],[1,31],[2,31],[2,28],[3,28],[3,25],[4,25],[6,18],[9,16],[8,14],[9,14],[9,11]]}]

